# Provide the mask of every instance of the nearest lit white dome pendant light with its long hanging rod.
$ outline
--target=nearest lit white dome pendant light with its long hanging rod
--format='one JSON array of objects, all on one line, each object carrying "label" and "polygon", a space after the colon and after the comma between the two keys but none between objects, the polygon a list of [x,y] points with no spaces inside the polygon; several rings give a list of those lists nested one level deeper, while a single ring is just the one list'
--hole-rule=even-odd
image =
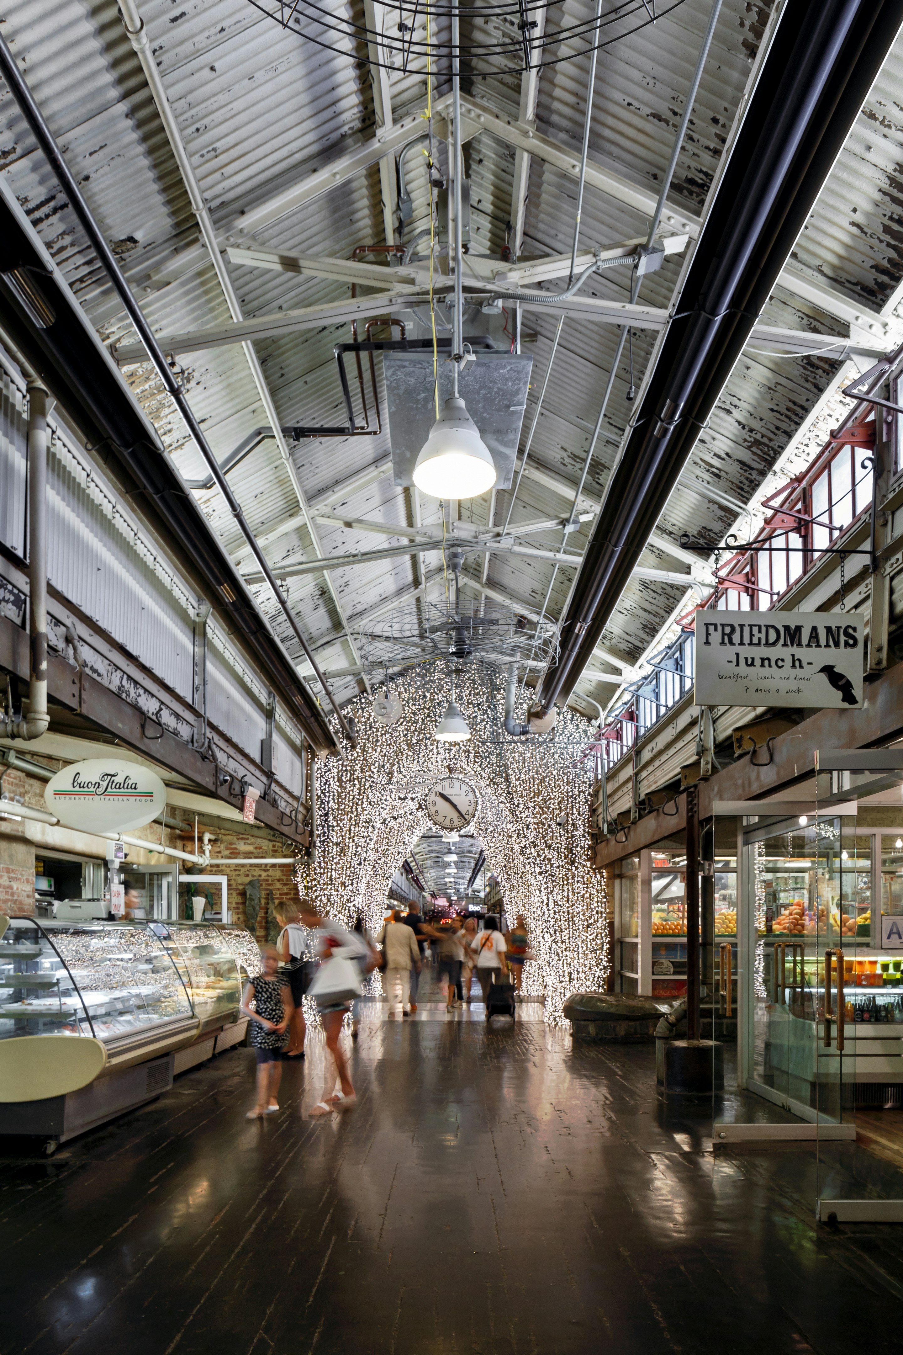
[{"label": "nearest lit white dome pendant light with its long hanging rod", "polygon": [[460,153],[460,46],[458,34],[458,4],[452,5],[452,117],[454,117],[454,187],[455,187],[455,329],[452,337],[454,383],[452,394],[429,431],[414,466],[413,480],[418,489],[433,499],[474,499],[495,484],[493,455],[479,436],[477,424],[467,413],[458,394],[458,373],[464,356],[463,348],[463,248],[460,180],[463,160]]}]

